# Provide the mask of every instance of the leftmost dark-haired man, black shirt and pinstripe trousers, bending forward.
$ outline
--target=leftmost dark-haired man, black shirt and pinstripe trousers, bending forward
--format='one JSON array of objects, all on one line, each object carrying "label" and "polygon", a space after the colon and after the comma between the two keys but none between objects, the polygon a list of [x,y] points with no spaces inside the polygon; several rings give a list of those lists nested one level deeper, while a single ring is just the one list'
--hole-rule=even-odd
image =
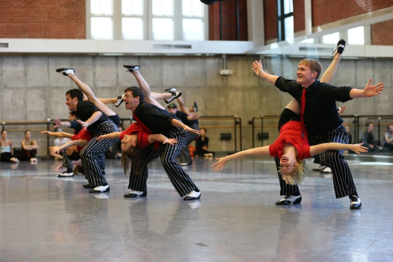
[{"label": "leftmost dark-haired man, black shirt and pinstripe trousers, bending forward", "polygon": [[[74,69],[68,68],[59,68],[56,71],[64,75],[75,74]],[[89,129],[95,137],[118,131],[118,127],[93,103],[83,101],[83,93],[79,89],[70,89],[66,92],[66,105],[69,110],[76,112],[82,128]],[[109,192],[109,185],[101,170],[104,161],[102,156],[105,150],[116,142],[115,139],[97,141],[93,138],[80,151],[80,159],[92,188],[89,193]]]}]

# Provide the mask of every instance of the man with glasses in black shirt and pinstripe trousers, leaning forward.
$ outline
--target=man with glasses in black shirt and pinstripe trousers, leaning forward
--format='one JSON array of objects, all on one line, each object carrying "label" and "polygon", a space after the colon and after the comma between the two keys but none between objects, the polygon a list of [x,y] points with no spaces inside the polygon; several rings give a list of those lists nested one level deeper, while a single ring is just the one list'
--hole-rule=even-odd
[{"label": "man with glasses in black shirt and pinstripe trousers, leaning forward", "polygon": [[[146,81],[139,73],[139,65],[124,65],[124,67],[127,68],[129,72],[133,73],[140,85],[147,85]],[[150,88],[144,88],[144,90],[149,89]],[[148,96],[150,97],[151,94],[149,93]],[[144,127],[147,132],[151,134],[163,134],[167,138],[178,140],[178,143],[175,145],[160,144],[157,150],[154,144],[141,150],[140,174],[136,174],[136,167],[133,165],[130,171],[128,185],[128,188],[132,191],[125,194],[124,197],[143,197],[147,195],[147,165],[158,156],[163,155],[162,164],[165,172],[179,195],[184,197],[184,200],[199,199],[201,191],[199,191],[181,166],[175,162],[175,157],[179,155],[180,150],[183,148],[187,140],[188,132],[197,134],[200,132],[179,121],[179,118],[169,113],[160,104],[158,104],[158,106],[151,103],[145,103],[145,93],[137,86],[128,87],[124,90],[124,104],[125,109],[133,111],[134,119]]]}]

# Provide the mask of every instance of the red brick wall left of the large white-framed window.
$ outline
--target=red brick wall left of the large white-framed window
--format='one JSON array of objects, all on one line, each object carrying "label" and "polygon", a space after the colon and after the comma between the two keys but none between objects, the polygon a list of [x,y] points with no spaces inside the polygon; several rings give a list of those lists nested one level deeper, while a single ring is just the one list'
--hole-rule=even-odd
[{"label": "red brick wall left of the large white-framed window", "polygon": [[0,38],[86,39],[84,0],[1,0]]}]

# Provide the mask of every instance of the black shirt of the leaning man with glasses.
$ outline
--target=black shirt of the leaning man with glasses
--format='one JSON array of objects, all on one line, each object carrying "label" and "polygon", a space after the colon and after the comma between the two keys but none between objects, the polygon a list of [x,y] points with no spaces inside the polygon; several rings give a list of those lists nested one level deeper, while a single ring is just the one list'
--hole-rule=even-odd
[{"label": "black shirt of the leaning man with glasses", "polygon": [[140,103],[134,113],[153,134],[169,132],[174,127],[171,123],[173,118],[180,121],[174,114],[149,103]]}]

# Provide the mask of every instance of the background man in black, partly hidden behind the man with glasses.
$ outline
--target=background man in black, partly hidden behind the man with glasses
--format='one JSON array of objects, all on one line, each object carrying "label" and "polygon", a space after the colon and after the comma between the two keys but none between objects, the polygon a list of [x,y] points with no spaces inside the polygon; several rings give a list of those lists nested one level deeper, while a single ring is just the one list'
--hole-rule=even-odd
[{"label": "background man in black, partly hidden behind the man with glasses", "polygon": [[[182,99],[182,98],[179,97],[178,100],[179,99]],[[167,108],[168,108],[168,112],[179,117],[183,123],[190,126],[192,129],[199,130],[199,126],[198,126],[199,114],[188,115],[187,113],[178,110],[176,104],[170,104],[167,106]],[[188,134],[187,140],[184,143],[184,146],[179,154],[181,166],[188,166],[188,165],[192,164],[192,159],[190,156],[190,150],[188,149],[188,145],[190,145],[191,142],[193,142],[197,137],[198,137],[198,134],[195,134],[195,133]]]}]

